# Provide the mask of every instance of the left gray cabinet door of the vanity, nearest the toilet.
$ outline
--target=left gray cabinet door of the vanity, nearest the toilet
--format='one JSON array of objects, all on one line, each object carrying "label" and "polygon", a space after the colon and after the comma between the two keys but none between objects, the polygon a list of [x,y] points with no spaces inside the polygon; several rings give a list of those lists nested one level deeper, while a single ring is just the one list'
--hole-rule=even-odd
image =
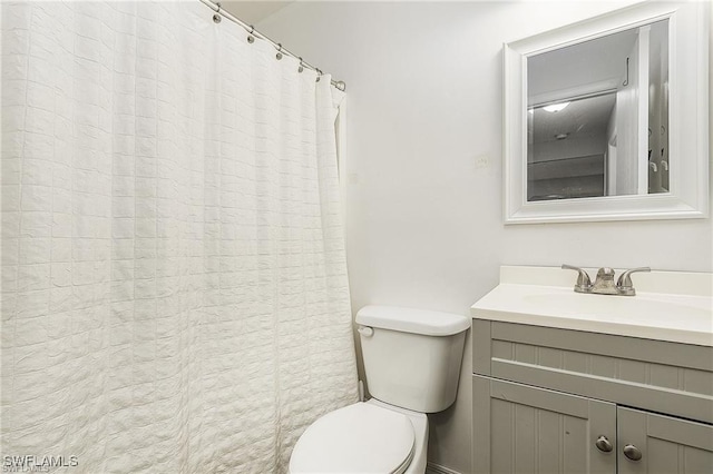
[{"label": "left gray cabinet door of the vanity, nearest the toilet", "polygon": [[[616,472],[616,405],[473,375],[473,473]],[[606,436],[613,450],[595,447]]]}]

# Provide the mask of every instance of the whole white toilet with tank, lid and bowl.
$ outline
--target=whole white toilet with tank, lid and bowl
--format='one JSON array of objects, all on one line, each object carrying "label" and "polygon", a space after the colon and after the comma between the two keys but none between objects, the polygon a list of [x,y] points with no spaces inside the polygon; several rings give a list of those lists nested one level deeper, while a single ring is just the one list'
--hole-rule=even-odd
[{"label": "whole white toilet with tank, lid and bowl", "polygon": [[465,316],[391,306],[356,314],[368,402],[310,425],[294,446],[291,474],[423,474],[427,413],[456,399]]}]

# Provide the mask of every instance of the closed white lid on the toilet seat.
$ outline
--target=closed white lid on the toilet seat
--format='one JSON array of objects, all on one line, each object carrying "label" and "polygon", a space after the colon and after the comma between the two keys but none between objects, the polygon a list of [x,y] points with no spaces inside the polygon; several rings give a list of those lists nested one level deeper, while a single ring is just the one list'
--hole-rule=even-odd
[{"label": "closed white lid on the toilet seat", "polygon": [[413,458],[414,441],[406,415],[355,403],[306,428],[292,452],[290,472],[400,474]]}]

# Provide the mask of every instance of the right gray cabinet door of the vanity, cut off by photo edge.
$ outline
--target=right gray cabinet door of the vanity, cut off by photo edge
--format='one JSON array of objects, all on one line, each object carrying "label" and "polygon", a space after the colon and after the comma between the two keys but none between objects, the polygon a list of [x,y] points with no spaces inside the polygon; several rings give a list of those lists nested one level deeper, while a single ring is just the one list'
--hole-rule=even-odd
[{"label": "right gray cabinet door of the vanity, cut off by photo edge", "polygon": [[[619,474],[713,473],[713,426],[624,407],[617,417]],[[627,445],[641,460],[624,454]]]}]

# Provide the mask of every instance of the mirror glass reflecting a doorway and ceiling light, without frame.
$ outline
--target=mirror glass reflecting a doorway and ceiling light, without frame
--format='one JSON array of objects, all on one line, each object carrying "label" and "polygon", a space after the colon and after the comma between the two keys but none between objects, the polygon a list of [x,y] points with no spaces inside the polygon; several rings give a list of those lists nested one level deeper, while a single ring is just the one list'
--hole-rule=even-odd
[{"label": "mirror glass reflecting a doorway and ceiling light, without frame", "polygon": [[667,19],[528,56],[527,200],[667,192]]}]

